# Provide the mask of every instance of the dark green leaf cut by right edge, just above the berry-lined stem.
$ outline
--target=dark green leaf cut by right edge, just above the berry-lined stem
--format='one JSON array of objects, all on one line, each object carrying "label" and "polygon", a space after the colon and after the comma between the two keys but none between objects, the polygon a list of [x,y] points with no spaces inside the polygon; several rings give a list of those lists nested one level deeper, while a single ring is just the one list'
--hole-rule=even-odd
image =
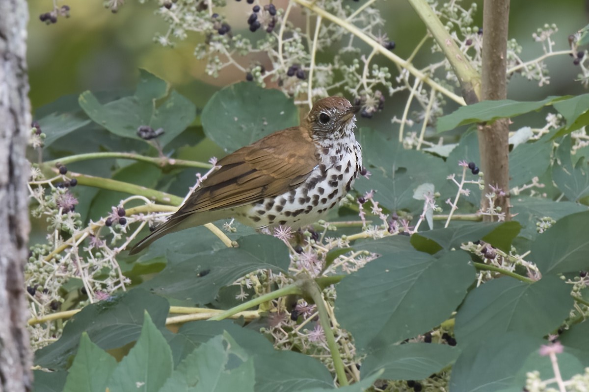
[{"label": "dark green leaf cut by right edge, just above the berry-lined stem", "polygon": [[565,216],[532,244],[529,258],[542,274],[587,270],[589,211]]}]

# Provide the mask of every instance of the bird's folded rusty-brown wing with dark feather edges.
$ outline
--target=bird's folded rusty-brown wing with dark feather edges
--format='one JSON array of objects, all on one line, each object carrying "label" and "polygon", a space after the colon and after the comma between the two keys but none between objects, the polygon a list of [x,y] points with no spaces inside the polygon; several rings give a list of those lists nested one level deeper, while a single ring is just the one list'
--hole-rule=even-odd
[{"label": "bird's folded rusty-brown wing with dark feather edges", "polygon": [[221,159],[177,217],[247,205],[293,189],[317,166],[316,146],[304,128],[273,133]]}]

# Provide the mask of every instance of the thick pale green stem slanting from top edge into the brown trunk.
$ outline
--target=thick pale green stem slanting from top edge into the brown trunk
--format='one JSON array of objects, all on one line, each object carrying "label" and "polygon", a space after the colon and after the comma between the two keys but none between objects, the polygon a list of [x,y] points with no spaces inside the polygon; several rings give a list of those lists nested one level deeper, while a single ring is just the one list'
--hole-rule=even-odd
[{"label": "thick pale green stem slanting from top edge into the brown trunk", "polygon": [[[425,23],[429,32],[432,33],[436,42],[444,52],[446,59],[452,65],[452,69],[458,76],[458,81],[462,87],[462,97],[466,103],[476,103],[481,100],[481,75],[472,66],[468,58],[454,42],[452,36],[446,31],[438,16],[434,13],[431,6],[425,0],[407,0],[415,9],[419,18]],[[486,1],[485,1],[486,3]]]}]

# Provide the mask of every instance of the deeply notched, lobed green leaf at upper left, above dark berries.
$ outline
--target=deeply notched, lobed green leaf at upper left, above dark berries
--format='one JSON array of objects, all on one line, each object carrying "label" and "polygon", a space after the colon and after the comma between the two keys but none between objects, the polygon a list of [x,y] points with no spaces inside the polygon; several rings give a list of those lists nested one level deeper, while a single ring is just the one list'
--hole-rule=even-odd
[{"label": "deeply notched, lobed green leaf at upper left, above dark berries", "polygon": [[144,69],[140,70],[140,82],[133,96],[102,105],[86,91],[78,102],[95,123],[121,138],[143,140],[137,135],[137,129],[143,125],[154,130],[162,128],[164,133],[157,138],[162,146],[180,135],[196,117],[193,103],[176,91],[168,92],[166,82]]}]

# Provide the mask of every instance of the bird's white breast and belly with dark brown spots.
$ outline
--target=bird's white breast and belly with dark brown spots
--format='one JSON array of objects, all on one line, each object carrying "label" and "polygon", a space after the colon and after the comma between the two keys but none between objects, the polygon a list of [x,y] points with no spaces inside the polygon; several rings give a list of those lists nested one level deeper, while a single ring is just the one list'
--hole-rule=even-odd
[{"label": "bird's white breast and belly with dark brown spots", "polygon": [[320,149],[319,155],[323,163],[302,185],[235,209],[236,219],[258,229],[279,225],[298,228],[321,219],[351,189],[362,167],[362,153],[352,137]]}]

